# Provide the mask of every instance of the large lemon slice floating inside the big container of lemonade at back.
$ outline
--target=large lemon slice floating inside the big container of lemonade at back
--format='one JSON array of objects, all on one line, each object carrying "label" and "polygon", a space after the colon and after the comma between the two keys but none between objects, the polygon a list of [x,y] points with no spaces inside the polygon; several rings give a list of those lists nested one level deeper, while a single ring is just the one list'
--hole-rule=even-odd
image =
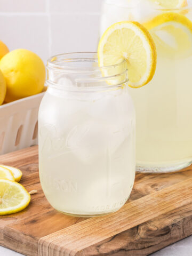
[{"label": "large lemon slice floating inside the big container of lemonade at back", "polygon": [[157,50],[166,56],[175,58],[192,54],[192,22],[184,15],[175,12],[159,14],[143,26],[153,36]]}]

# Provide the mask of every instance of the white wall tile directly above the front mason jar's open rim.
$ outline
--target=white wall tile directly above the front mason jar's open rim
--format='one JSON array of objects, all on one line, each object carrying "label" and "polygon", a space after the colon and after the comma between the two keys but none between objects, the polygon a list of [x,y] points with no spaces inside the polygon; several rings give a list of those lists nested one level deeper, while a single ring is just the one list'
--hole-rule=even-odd
[{"label": "white wall tile directly above the front mason jar's open rim", "polygon": [[51,15],[51,55],[62,52],[95,51],[99,15]]}]

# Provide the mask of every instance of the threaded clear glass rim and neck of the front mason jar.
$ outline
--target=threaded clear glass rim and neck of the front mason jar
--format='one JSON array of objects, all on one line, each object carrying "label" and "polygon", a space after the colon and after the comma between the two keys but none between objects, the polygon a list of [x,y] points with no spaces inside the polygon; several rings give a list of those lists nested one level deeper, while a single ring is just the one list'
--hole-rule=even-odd
[{"label": "threaded clear glass rim and neck of the front mason jar", "polygon": [[[129,80],[126,60],[115,65],[99,67],[96,52],[54,55],[47,60],[46,68],[46,84],[57,89],[85,90],[86,88],[86,91],[92,91],[106,87],[108,90],[121,87]],[[71,83],[73,86],[67,85]]]}]

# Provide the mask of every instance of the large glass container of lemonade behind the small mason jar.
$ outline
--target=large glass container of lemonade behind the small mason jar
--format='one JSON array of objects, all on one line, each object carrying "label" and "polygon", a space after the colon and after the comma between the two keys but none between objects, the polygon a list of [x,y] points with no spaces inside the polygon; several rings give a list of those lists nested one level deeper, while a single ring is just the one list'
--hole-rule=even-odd
[{"label": "large glass container of lemonade behind the small mason jar", "polygon": [[137,119],[137,171],[171,172],[192,162],[192,10],[187,1],[103,3],[100,37],[113,23],[138,21],[156,45],[153,79],[129,89]]}]

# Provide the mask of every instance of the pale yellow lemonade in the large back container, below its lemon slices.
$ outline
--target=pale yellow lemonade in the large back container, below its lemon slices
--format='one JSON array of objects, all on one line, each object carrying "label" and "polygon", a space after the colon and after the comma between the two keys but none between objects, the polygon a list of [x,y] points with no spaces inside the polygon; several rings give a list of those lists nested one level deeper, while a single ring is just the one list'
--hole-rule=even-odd
[{"label": "pale yellow lemonade in the large back container, below its lemon slices", "polygon": [[192,56],[158,54],[153,81],[130,89],[137,111],[137,164],[171,166],[192,156]]}]

